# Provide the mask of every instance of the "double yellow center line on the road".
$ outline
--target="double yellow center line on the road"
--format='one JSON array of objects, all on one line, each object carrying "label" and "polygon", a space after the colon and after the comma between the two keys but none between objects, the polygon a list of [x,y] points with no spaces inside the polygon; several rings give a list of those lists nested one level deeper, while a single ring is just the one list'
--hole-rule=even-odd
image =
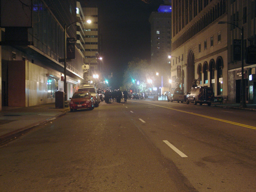
[{"label": "double yellow center line on the road", "polygon": [[[142,103],[142,102],[140,102],[140,103]],[[236,122],[232,122],[232,121],[228,121],[228,120],[223,120],[223,119],[219,119],[219,118],[215,118],[215,117],[210,117],[210,116],[206,116],[206,115],[196,114],[196,113],[193,113],[193,112],[187,112],[187,111],[183,111],[183,110],[179,110],[179,109],[174,109],[174,108],[170,108],[170,107],[165,107],[165,106],[160,106],[160,105],[156,105],[156,104],[151,104],[151,103],[146,103],[146,104],[154,105],[154,106],[158,106],[158,107],[162,107],[162,108],[166,108],[166,109],[171,109],[171,110],[179,111],[179,112],[182,112],[182,113],[196,115],[196,116],[200,116],[200,117],[204,117],[204,118],[208,118],[208,119],[212,119],[212,120],[216,120],[216,121],[221,121],[221,122],[225,122],[225,123],[229,123],[229,124],[233,124],[233,125],[238,125],[238,126],[242,126],[242,127],[246,127],[246,128],[250,128],[250,129],[256,130],[256,127],[250,126],[250,125],[236,123]]]}]

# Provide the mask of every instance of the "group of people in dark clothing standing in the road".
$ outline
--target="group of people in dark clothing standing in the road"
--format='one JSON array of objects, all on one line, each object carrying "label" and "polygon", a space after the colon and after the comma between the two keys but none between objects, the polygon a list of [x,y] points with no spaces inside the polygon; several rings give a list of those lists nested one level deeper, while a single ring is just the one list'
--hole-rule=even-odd
[{"label": "group of people in dark clothing standing in the road", "polygon": [[[124,90],[123,94],[124,94],[124,102],[127,102],[128,92],[126,90]],[[112,92],[111,92],[111,90],[108,89],[105,91],[105,94],[104,94],[105,102],[110,103],[112,100],[112,102],[120,103],[121,99],[123,98],[123,94],[120,89],[114,90]]]}]

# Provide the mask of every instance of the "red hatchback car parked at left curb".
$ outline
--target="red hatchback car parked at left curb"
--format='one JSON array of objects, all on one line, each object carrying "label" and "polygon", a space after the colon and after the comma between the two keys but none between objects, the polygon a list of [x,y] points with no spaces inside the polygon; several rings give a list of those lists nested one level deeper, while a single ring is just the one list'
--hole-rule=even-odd
[{"label": "red hatchback car parked at left curb", "polygon": [[93,96],[90,94],[90,92],[75,92],[72,98],[70,99],[70,112],[72,112],[73,110],[84,108],[89,108],[90,110],[94,109]]}]

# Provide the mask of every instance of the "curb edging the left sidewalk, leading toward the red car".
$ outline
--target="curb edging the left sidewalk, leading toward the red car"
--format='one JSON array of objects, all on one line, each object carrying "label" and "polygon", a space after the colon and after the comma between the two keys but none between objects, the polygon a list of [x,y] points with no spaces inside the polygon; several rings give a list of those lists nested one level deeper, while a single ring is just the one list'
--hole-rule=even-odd
[{"label": "curb edging the left sidewalk, leading toward the red car", "polygon": [[12,139],[15,139],[16,137],[18,137],[18,136],[20,136],[22,134],[25,134],[26,132],[29,132],[30,130],[32,130],[33,128],[35,128],[37,126],[40,126],[40,125],[45,124],[45,123],[47,123],[49,121],[55,120],[56,118],[59,118],[61,116],[66,115],[66,111],[67,110],[69,110],[69,108],[62,110],[63,112],[61,114],[52,116],[50,118],[47,118],[46,120],[42,120],[40,122],[28,125],[28,126],[26,126],[24,128],[20,128],[18,130],[15,130],[15,131],[12,131],[10,133],[7,133],[7,134],[4,134],[4,135],[0,136],[0,145],[3,145],[6,142],[8,142],[8,141],[10,141]]}]

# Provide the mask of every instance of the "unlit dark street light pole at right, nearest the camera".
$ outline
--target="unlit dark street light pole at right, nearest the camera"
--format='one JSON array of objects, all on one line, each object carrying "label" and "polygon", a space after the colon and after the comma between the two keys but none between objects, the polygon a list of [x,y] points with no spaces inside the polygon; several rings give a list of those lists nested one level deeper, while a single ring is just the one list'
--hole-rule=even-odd
[{"label": "unlit dark street light pole at right, nearest the camera", "polygon": [[242,43],[241,43],[241,73],[242,73],[242,82],[241,82],[241,102],[240,102],[240,107],[242,108],[246,108],[246,101],[245,101],[245,89],[244,89],[244,27],[242,26],[242,28],[240,28],[239,26],[237,26],[236,24],[230,23],[230,22],[225,22],[225,21],[220,21],[218,22],[218,24],[231,24],[236,26],[238,29],[241,30],[241,36],[242,36]]}]

